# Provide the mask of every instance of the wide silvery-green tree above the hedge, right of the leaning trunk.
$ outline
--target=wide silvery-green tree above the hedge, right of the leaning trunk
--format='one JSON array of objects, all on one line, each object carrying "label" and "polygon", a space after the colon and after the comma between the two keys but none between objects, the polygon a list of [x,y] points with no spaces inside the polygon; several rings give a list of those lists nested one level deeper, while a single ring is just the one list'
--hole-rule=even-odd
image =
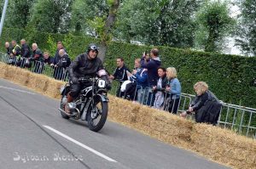
[{"label": "wide silvery-green tree above the hedge, right of the leaning trunk", "polygon": [[200,0],[125,0],[118,15],[115,36],[126,42],[193,46],[193,15]]}]

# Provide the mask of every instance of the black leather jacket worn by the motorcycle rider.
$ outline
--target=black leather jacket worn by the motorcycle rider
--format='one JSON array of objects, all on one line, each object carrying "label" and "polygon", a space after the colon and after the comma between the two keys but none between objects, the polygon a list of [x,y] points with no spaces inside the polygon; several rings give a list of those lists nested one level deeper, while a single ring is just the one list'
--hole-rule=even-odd
[{"label": "black leather jacket worn by the motorcycle rider", "polygon": [[99,58],[88,59],[88,54],[80,54],[68,68],[70,78],[90,78],[103,70],[102,60]]}]

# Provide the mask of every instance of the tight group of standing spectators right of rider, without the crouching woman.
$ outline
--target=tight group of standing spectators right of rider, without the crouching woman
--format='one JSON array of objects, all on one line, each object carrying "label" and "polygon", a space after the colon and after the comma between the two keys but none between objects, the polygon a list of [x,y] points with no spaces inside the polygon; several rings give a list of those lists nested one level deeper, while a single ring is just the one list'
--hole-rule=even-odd
[{"label": "tight group of standing spectators right of rider, without the crouching woman", "polygon": [[117,97],[177,114],[181,95],[177,70],[161,66],[157,48],[145,52],[141,59],[135,59],[132,71],[126,67],[123,58],[116,61],[117,67],[109,78],[119,82]]}]

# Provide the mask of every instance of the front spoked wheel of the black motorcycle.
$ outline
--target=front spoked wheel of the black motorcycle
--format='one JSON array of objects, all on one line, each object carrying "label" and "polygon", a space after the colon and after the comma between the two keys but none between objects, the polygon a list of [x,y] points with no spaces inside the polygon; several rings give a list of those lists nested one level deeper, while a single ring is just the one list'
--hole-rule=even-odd
[{"label": "front spoked wheel of the black motorcycle", "polygon": [[94,104],[90,104],[87,114],[88,126],[91,131],[98,132],[104,126],[108,117],[108,102],[102,99],[95,99]]}]

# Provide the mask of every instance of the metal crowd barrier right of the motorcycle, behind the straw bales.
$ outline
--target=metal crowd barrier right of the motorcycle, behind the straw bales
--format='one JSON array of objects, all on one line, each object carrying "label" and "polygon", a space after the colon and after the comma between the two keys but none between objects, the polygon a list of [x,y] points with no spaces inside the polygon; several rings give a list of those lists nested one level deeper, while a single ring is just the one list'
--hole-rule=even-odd
[{"label": "metal crowd barrier right of the motorcycle, behind the straw bales", "polygon": [[[142,87],[137,86],[135,89],[135,93],[139,91]],[[150,100],[149,104],[148,99],[149,94],[152,93],[152,88],[146,87],[144,88],[144,93],[142,95],[143,99],[138,99],[137,94],[134,94],[132,98],[127,97],[126,93],[118,93],[119,85],[114,85],[112,88],[112,93],[116,94],[116,96],[123,98],[123,99],[129,99],[132,101],[136,101],[140,104],[145,105],[153,105],[154,100]],[[114,92],[113,92],[114,91]],[[171,99],[170,97],[166,97],[166,99]],[[181,93],[180,99],[178,100],[177,104],[177,114],[183,112],[184,110],[188,110],[189,104],[191,104],[192,100],[195,98],[195,95],[188,94],[188,93]],[[169,107],[171,102],[168,103],[167,107]],[[174,100],[174,103],[175,100]],[[221,101],[222,107],[220,110],[220,114],[218,117],[218,127],[227,128],[230,130],[233,130],[236,133],[239,133],[241,135],[245,135],[249,138],[256,139],[256,109],[244,107],[241,105],[236,104],[227,104]],[[161,110],[166,110],[169,112],[173,112],[174,106],[172,106],[172,110],[167,110],[162,108]],[[188,118],[195,119],[195,115],[189,115]]]}]

